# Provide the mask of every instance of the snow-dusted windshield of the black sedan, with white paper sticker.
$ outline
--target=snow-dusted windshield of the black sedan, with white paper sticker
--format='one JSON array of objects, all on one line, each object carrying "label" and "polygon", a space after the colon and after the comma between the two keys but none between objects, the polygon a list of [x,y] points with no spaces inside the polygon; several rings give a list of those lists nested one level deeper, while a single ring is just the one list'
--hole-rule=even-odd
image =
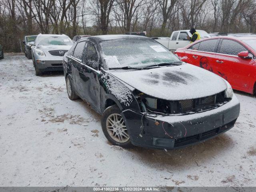
[{"label": "snow-dusted windshield of the black sedan, with white paper sticker", "polygon": [[177,56],[153,39],[108,40],[101,42],[100,45],[109,68],[123,66],[141,68],[161,63],[180,62]]}]

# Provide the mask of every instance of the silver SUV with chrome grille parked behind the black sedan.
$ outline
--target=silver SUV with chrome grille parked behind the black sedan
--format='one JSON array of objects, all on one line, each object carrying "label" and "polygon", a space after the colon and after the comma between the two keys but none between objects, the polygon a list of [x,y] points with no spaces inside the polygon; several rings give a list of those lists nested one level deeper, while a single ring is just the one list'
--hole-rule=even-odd
[{"label": "silver SUV with chrome grille parked behind the black sedan", "polygon": [[32,48],[36,75],[45,71],[62,71],[62,58],[72,45],[72,40],[64,34],[39,34]]}]

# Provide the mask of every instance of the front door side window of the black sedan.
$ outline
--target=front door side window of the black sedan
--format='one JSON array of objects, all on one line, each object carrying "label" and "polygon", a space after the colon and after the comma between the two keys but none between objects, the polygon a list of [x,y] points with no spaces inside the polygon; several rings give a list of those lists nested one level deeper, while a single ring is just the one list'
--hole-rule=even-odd
[{"label": "front door side window of the black sedan", "polygon": [[84,54],[84,63],[96,70],[99,68],[99,57],[95,45],[92,42],[88,42]]}]

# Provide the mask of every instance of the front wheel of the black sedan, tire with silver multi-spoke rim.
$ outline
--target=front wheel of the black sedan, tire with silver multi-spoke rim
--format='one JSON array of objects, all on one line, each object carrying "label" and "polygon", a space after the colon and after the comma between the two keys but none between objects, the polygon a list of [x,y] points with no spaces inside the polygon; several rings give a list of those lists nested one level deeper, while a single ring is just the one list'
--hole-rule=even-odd
[{"label": "front wheel of the black sedan, tire with silver multi-spoke rim", "polygon": [[133,147],[118,106],[112,105],[106,108],[101,118],[101,127],[105,137],[113,145],[123,148]]}]

